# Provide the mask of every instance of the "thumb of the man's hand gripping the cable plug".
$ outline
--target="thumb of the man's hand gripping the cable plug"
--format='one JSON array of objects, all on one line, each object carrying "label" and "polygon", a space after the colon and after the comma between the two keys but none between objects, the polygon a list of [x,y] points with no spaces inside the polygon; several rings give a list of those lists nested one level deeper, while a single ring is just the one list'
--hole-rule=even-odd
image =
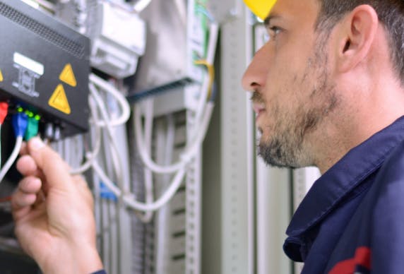
[{"label": "thumb of the man's hand gripping the cable plug", "polygon": [[52,148],[45,145],[38,137],[28,142],[28,152],[42,170],[49,188],[69,189],[69,166]]}]

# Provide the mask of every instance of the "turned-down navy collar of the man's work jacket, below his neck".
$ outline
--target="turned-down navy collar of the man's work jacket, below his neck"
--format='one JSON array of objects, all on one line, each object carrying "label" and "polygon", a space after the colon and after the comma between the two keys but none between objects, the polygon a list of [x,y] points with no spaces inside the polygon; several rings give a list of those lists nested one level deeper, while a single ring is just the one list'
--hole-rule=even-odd
[{"label": "turned-down navy collar of the man's work jacket, below his neck", "polygon": [[311,187],[287,228],[296,237],[314,227],[338,206],[384,162],[391,150],[404,140],[404,117],[352,148]]}]

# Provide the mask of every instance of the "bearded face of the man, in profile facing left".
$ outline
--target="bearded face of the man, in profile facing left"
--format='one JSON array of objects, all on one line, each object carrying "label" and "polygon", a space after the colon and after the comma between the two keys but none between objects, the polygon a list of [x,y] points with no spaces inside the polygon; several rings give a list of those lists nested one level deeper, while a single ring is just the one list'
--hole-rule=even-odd
[{"label": "bearded face of the man, in profile facing left", "polygon": [[269,165],[314,165],[316,136],[339,104],[328,39],[314,30],[319,8],[317,0],[278,0],[266,20],[271,39],[244,74]]}]

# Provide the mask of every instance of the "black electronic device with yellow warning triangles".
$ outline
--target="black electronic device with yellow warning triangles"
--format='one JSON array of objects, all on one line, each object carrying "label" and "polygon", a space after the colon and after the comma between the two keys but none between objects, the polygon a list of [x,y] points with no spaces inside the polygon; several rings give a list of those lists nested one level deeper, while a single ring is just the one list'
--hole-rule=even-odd
[{"label": "black electronic device with yellow warning triangles", "polygon": [[0,0],[0,100],[62,136],[88,130],[90,40],[20,0]]}]

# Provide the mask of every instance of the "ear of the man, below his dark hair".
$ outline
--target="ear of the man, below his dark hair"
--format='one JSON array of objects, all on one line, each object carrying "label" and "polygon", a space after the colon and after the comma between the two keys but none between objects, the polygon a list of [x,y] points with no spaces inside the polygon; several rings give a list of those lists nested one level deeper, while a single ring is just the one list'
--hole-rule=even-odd
[{"label": "ear of the man, below his dark hair", "polygon": [[369,5],[357,6],[343,18],[338,35],[338,71],[345,73],[367,57],[378,27],[377,13]]}]

